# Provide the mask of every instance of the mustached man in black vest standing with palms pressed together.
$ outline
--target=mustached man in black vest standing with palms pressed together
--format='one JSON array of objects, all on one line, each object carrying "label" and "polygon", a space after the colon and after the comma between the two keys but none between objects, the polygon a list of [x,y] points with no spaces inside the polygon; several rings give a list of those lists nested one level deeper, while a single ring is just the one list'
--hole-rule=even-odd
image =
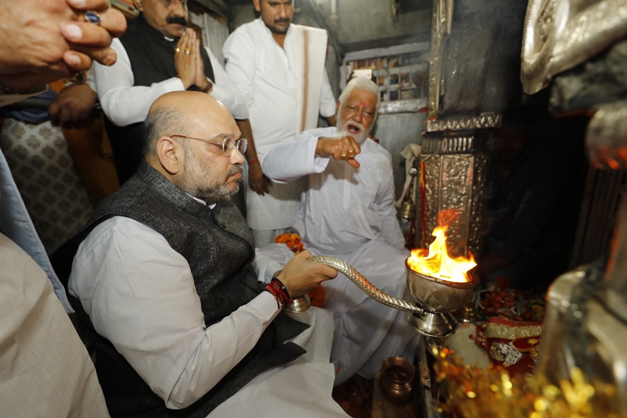
[{"label": "mustached man in black vest standing with palms pressed together", "polygon": [[[95,91],[120,183],[141,162],[141,136],[148,108],[170,91],[202,91],[224,104],[240,123],[248,107],[219,59],[189,27],[187,0],[134,0],[139,13],[111,43],[116,65],[94,65]],[[253,147],[249,147],[251,150]],[[249,153],[251,152],[249,150]]]}]

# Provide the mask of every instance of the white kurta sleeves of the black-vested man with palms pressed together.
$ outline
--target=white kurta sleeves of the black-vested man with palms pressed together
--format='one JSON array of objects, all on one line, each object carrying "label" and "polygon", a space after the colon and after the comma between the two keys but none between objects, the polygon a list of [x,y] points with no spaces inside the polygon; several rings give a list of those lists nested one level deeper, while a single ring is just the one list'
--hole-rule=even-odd
[{"label": "white kurta sleeves of the black-vested man with palms pressed together", "polygon": [[[132,123],[144,122],[148,116],[148,109],[160,95],[171,91],[184,91],[185,86],[178,77],[165,79],[153,83],[151,86],[135,86],[133,71],[126,49],[119,39],[111,42],[111,48],[118,54],[118,61],[107,66],[93,64],[95,91],[98,92],[102,111],[112,123],[126,126]],[[219,61],[209,48],[205,48],[213,68],[215,80],[211,80],[213,88],[210,93],[214,98],[226,106],[233,117],[245,119],[248,109],[243,98],[233,86],[233,80],[222,68]],[[172,57],[174,59],[174,57]]]}]

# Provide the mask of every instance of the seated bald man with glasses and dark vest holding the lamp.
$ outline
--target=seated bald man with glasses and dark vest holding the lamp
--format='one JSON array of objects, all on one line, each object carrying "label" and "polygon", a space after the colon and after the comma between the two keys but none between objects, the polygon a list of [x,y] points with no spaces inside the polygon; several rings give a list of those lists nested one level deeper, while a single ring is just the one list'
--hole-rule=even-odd
[{"label": "seated bald man with glasses and dark vest holding the lamp", "polygon": [[112,416],[347,417],[331,398],[332,315],[283,311],[337,272],[304,251],[258,277],[228,199],[246,146],[214,98],[162,95],[135,176],[54,254]]}]

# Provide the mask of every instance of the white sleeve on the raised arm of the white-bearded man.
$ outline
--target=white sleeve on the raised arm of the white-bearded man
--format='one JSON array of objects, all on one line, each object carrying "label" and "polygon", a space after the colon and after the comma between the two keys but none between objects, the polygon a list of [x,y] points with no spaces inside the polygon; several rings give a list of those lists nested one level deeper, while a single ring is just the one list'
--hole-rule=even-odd
[{"label": "white sleeve on the raised arm of the white-bearded man", "polygon": [[277,183],[322,173],[329,164],[328,155],[316,155],[318,138],[332,136],[334,127],[318,127],[301,132],[294,141],[270,148],[261,159],[261,169]]}]

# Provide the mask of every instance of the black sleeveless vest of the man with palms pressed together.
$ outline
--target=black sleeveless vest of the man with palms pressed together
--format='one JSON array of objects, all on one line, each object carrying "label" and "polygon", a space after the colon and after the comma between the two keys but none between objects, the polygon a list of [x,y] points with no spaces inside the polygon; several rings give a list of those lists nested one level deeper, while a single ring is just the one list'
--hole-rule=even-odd
[{"label": "black sleeveless vest of the man with palms pressed together", "polygon": [[[144,15],[129,20],[125,33],[120,41],[130,59],[135,86],[150,86],[171,77],[176,77],[174,65],[174,49],[178,38],[170,40],[163,33],[150,26]],[[206,50],[201,47],[201,56],[205,75],[213,77],[213,68]],[[192,86],[189,90],[197,90]],[[147,103],[150,106],[152,103]],[[128,180],[139,167],[144,157],[144,123],[133,123],[127,126],[116,126],[108,118],[105,119],[107,135],[111,142],[116,162],[116,171],[120,184]]]}]

